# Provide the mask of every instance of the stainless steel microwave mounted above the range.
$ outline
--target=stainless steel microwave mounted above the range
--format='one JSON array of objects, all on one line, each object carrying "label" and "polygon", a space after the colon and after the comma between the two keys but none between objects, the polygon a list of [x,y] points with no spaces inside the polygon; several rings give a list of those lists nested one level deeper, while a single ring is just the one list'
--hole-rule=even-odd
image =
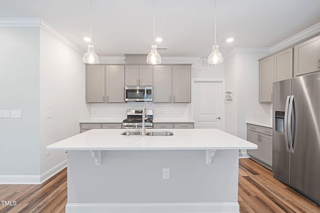
[{"label": "stainless steel microwave mounted above the range", "polygon": [[152,101],[152,86],[124,87],[125,101]]}]

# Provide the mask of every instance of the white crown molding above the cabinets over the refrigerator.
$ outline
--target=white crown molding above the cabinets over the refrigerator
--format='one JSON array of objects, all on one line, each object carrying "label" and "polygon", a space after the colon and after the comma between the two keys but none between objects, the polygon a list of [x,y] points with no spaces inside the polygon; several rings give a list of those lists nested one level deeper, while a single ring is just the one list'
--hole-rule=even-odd
[{"label": "white crown molding above the cabinets over the refrigerator", "polygon": [[318,33],[320,33],[320,22],[270,47],[271,53],[292,46]]}]

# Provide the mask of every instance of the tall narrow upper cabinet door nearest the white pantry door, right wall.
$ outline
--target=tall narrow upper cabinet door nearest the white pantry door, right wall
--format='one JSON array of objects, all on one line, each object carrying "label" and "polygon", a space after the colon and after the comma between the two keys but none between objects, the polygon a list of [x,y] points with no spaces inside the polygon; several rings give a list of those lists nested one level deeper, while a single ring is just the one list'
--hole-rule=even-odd
[{"label": "tall narrow upper cabinet door nearest the white pantry door, right wall", "polygon": [[272,102],[273,55],[259,61],[259,102]]}]

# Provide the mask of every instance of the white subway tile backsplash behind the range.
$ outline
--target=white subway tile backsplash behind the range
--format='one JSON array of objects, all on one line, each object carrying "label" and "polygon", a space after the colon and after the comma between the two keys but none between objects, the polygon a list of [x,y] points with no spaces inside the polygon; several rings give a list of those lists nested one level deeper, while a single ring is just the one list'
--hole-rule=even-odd
[{"label": "white subway tile backsplash behind the range", "polygon": [[91,119],[124,119],[127,109],[153,109],[154,119],[176,119],[188,120],[189,103],[149,103],[149,102],[130,102],[130,103],[96,103],[91,104]]}]

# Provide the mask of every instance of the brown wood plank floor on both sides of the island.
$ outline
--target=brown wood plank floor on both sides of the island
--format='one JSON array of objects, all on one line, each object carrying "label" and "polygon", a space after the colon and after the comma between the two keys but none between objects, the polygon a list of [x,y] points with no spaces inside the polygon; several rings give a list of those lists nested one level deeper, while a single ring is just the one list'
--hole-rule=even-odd
[{"label": "brown wood plank floor on both sides of the island", "polygon": [[[0,213],[64,213],[66,169],[41,185],[0,185]],[[250,159],[239,159],[240,213],[320,213],[320,207],[273,178]]]}]

